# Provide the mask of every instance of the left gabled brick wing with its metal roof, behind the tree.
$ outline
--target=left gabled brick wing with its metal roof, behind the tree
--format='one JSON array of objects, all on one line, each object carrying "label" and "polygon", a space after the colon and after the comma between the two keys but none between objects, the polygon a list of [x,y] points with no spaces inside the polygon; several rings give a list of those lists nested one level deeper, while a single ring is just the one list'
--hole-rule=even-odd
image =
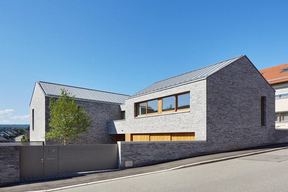
[{"label": "left gabled brick wing with its metal roof, behind the tree", "polygon": [[[107,122],[121,118],[119,105],[125,102],[128,95],[108,93],[79,87],[65,86],[39,81],[35,83],[30,102],[30,141],[45,141],[45,131],[49,130],[49,98],[58,97],[61,89],[65,88],[78,105],[86,108],[90,117],[95,117],[95,125],[91,130],[82,133],[84,140],[79,142],[67,141],[67,144],[110,144],[116,143],[116,135],[109,135]],[[46,141],[46,145],[57,145],[62,142]]]}]

